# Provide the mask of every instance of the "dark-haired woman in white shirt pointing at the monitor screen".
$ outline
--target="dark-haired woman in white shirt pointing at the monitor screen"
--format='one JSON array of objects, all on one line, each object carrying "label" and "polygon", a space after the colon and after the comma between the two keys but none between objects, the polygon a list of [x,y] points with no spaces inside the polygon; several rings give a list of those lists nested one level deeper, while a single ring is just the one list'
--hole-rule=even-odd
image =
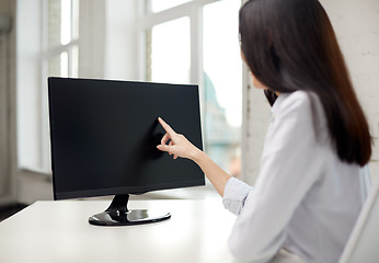
[{"label": "dark-haired woman in white shirt pointing at the monitor screen", "polygon": [[253,85],[272,105],[255,187],[161,118],[158,149],[195,161],[238,215],[236,258],[267,262],[285,248],[306,262],[337,262],[361,208],[358,173],[371,138],[332,25],[317,0],[251,0],[240,36]]}]

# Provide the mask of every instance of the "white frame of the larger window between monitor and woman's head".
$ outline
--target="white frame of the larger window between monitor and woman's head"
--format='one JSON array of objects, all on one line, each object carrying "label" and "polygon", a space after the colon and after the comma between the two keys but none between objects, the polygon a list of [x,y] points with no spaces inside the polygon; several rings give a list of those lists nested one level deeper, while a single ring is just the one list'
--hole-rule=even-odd
[{"label": "white frame of the larger window between monitor and woman's head", "polygon": [[[204,129],[205,127],[205,87],[204,87],[204,57],[203,57],[203,8],[207,4],[220,2],[222,0],[192,0],[182,4],[179,4],[176,7],[162,10],[160,12],[148,12],[148,1],[138,1],[139,2],[139,19],[138,19],[138,78],[141,80],[148,79],[148,57],[147,57],[147,35],[148,32],[151,32],[152,27],[156,25],[160,25],[165,22],[174,21],[176,19],[181,18],[190,18],[190,32],[191,32],[191,68],[190,68],[190,83],[196,83],[199,87],[199,100],[200,100],[200,114],[202,114],[202,127]],[[240,1],[241,4],[244,2],[244,0]],[[237,35],[237,34],[236,34]],[[242,61],[241,61],[242,64]],[[245,65],[242,66],[242,125],[241,125],[241,178],[244,178],[244,171],[245,171],[245,155],[244,151],[246,150],[246,146],[242,144],[242,141],[246,141],[246,136],[244,133],[246,129],[245,125],[245,117],[246,117],[246,102],[245,102],[245,93],[246,89],[245,87],[249,85],[249,71],[245,67]],[[207,144],[205,141],[205,133],[203,130],[203,142],[205,150],[207,147]]]}]

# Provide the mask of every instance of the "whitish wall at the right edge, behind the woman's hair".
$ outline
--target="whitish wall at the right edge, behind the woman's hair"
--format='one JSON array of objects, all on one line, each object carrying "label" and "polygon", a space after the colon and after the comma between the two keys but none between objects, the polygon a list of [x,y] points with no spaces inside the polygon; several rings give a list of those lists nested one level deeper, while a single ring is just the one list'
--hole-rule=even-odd
[{"label": "whitish wall at the right edge, behind the woman's hair", "polygon": [[374,151],[372,176],[379,173],[379,1],[323,0],[351,72],[358,99],[364,107]]}]

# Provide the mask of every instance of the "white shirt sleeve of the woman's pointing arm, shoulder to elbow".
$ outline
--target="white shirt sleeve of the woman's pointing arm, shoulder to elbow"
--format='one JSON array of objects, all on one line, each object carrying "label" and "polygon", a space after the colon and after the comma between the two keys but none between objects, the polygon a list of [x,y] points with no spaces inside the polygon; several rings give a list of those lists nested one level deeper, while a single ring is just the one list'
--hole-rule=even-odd
[{"label": "white shirt sleeve of the woman's pointing arm, shoulder to elbow", "polygon": [[[294,211],[321,172],[323,153],[309,100],[307,93],[298,93],[283,101],[266,135],[255,187],[240,198],[243,207],[231,208],[239,216],[229,248],[239,260],[268,262],[275,256]],[[225,199],[232,187],[239,191],[228,186]]]}]

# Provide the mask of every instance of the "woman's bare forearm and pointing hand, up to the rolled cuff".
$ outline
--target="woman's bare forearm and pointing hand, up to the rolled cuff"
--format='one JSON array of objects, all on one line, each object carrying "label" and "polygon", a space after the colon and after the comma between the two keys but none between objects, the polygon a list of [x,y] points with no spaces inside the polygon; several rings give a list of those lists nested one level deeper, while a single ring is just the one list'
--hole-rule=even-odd
[{"label": "woman's bare forearm and pointing hand, up to the rolled cuff", "polygon": [[[183,135],[176,134],[170,125],[162,118],[158,118],[166,134],[163,136],[161,144],[157,148],[161,151],[166,151],[174,159],[177,157],[193,160],[205,173],[217,192],[223,196],[225,185],[231,178],[217,163],[215,163],[204,151],[199,150],[191,144]],[[169,141],[169,145],[166,145]]]}]

